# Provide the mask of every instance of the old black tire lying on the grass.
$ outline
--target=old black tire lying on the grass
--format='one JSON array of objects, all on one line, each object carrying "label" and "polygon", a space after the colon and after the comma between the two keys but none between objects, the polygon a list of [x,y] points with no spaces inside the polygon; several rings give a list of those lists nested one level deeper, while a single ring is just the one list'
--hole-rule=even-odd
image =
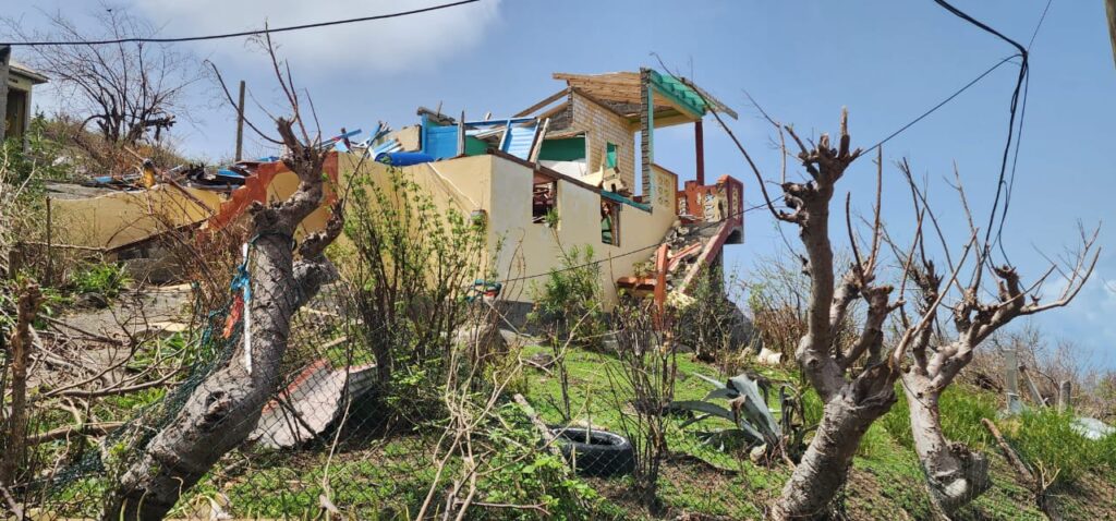
[{"label": "old black tire lying on the grass", "polygon": [[566,461],[581,475],[607,477],[635,471],[635,452],[624,436],[586,428],[554,428]]}]

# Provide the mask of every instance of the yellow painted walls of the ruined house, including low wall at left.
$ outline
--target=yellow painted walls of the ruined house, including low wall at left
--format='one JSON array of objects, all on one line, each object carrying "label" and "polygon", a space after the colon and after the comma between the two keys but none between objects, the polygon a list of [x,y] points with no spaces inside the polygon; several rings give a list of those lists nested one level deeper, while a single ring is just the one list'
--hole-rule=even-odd
[{"label": "yellow painted walls of the ruined house, including low wall at left", "polygon": [[[339,154],[340,192],[353,173],[360,168],[373,180],[386,180],[388,168],[372,161],[360,161],[358,155]],[[631,205],[620,205],[619,245],[600,241],[600,194],[568,181],[558,181],[558,218],[555,230],[531,222],[531,189],[535,173],[520,163],[494,155],[477,155],[407,166],[404,172],[426,191],[433,203],[443,212],[456,208],[464,214],[483,210],[489,221],[489,250],[496,257],[497,272],[502,279],[545,274],[561,267],[559,242],[565,248],[591,245],[595,258],[602,263],[600,284],[606,307],[616,302],[615,281],[633,274],[633,266],[648,260],[654,250],[648,247],[662,242],[675,220],[674,197],[666,196],[674,182],[668,173],[656,171],[656,189],[662,196],[648,197],[654,205],[646,212]],[[658,177],[661,176],[661,177]],[[285,172],[276,176],[268,187],[269,200],[285,199],[297,187],[295,174]],[[223,196],[214,192],[186,189],[213,209]],[[158,185],[148,191],[117,192],[99,197],[55,200],[55,230],[57,242],[79,245],[113,248],[127,244],[163,230],[152,216],[166,215],[175,225],[200,222],[209,213],[192,203],[176,189]],[[304,221],[305,232],[319,230],[328,216],[328,209],[318,209]],[[555,237],[557,234],[557,238]],[[644,250],[625,254],[634,250]],[[531,301],[532,284],[541,284],[545,277],[536,277],[507,286],[506,297]]]}]

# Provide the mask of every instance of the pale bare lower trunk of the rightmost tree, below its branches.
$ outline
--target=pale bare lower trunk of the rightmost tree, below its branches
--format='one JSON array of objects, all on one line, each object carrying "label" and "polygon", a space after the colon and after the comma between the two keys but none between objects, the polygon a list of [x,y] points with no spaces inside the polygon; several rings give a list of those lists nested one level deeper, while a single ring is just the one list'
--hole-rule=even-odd
[{"label": "pale bare lower trunk of the rightmost tree, below its branches", "polygon": [[903,375],[911,413],[911,435],[918,453],[934,506],[946,517],[992,486],[988,459],[963,443],[945,440],[941,426],[941,389],[930,379],[908,372]]}]

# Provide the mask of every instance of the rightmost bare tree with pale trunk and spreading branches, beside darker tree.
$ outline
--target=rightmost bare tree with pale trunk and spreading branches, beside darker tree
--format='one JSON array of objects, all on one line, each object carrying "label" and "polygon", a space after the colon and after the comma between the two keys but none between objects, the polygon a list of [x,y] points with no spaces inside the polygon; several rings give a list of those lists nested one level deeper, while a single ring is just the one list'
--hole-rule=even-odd
[{"label": "rightmost bare tree with pale trunk and spreading branches, beside darker tree", "polygon": [[[915,213],[932,214],[925,195],[913,181],[910,165],[904,161],[899,168],[908,181]],[[969,213],[960,175],[956,176],[956,183],[970,232],[975,238],[978,230]],[[932,221],[936,223],[936,218]],[[913,261],[913,248],[905,264],[905,276],[921,293],[917,310],[922,315],[921,321],[927,326],[904,336],[901,347],[907,344],[911,356],[908,360],[897,358],[894,361],[910,361],[902,374],[902,380],[908,398],[915,451],[927,477],[931,499],[942,512],[950,514],[988,490],[991,482],[983,455],[972,452],[963,443],[951,443],[945,438],[939,411],[942,392],[972,361],[977,347],[1010,321],[1068,305],[1093,273],[1100,252],[1099,248],[1094,248],[1097,232],[1089,234],[1083,229],[1080,249],[1066,259],[1052,261],[1046,273],[1024,288],[1016,269],[1007,264],[993,266],[989,259],[991,244],[982,244],[973,250],[970,282],[963,286],[953,277],[943,287],[943,279],[935,271],[934,262],[926,258],[924,238],[922,233],[916,234],[920,260]],[[945,239],[942,235],[940,239],[944,248]],[[949,257],[946,262],[952,263]],[[963,269],[963,263],[962,259],[956,267],[951,267],[952,271],[956,273]],[[1056,271],[1065,279],[1061,290],[1055,299],[1040,302],[1039,293],[1043,283]],[[994,277],[994,293],[983,284],[984,277]],[[952,293],[955,300],[949,306],[951,316],[946,319],[952,322],[954,332],[951,335],[945,332],[947,328],[939,328],[936,334],[932,334],[941,309],[934,302],[940,302],[947,293]],[[991,298],[985,298],[984,295]],[[912,331],[905,312],[899,313],[899,319],[907,331]]]}]

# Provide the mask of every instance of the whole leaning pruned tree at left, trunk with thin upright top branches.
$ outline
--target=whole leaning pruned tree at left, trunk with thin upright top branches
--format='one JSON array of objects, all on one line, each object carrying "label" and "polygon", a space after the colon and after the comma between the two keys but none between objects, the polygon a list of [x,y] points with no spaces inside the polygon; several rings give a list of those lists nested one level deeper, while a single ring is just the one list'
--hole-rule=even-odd
[{"label": "whole leaning pruned tree at left, trunk with thin upright top branches", "polygon": [[320,146],[320,132],[307,129],[314,122],[301,115],[304,99],[290,69],[276,57],[270,38],[264,42],[290,115],[272,117],[278,138],[261,136],[286,148],[282,162],[298,175],[299,186],[285,201],[250,208],[250,237],[256,238],[248,270],[252,298],[246,302],[251,349],[246,353],[243,344],[238,346],[190,393],[171,421],[136,447],[138,456],[126,464],[119,483],[107,494],[106,520],[162,519],[213,463],[248,437],[280,383],[291,317],[336,277],[324,250],[341,231],[340,201],[326,230],[306,237],[297,252],[291,249],[296,228],[324,201],[328,152]]}]

